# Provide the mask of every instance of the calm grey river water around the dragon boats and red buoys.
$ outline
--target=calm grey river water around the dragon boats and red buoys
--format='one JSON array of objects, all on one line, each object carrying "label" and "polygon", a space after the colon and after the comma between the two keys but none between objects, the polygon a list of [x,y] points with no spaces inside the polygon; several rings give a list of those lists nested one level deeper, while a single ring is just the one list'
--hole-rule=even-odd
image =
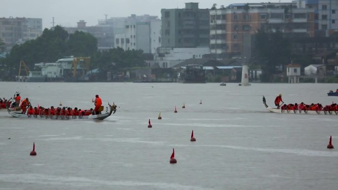
[{"label": "calm grey river water around the dragon boats and red buoys", "polygon": [[[337,84],[19,83],[33,106],[87,109],[103,121],[20,119],[0,111],[0,190],[336,190],[338,115],[275,114],[285,103],[338,102]],[[202,104],[200,102],[202,101]],[[185,109],[182,109],[185,104]],[[175,106],[178,113],[174,113]],[[162,120],[157,119],[161,112]],[[153,128],[147,128],[148,119]],[[196,142],[190,142],[194,130]],[[10,139],[9,139],[10,138]],[[33,142],[37,156],[30,156]],[[177,164],[169,164],[175,149]]]}]

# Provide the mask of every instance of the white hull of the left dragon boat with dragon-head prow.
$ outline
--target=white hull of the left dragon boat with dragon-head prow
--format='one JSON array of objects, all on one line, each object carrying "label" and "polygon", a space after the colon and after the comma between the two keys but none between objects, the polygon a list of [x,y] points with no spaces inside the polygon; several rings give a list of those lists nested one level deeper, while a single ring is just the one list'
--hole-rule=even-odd
[{"label": "white hull of the left dragon boat with dragon-head prow", "polygon": [[95,115],[79,115],[79,116],[71,116],[68,117],[66,115],[27,115],[21,114],[21,112],[13,112],[10,111],[8,107],[6,107],[8,114],[12,115],[13,117],[18,118],[31,118],[31,119],[60,119],[60,120],[72,120],[72,119],[83,119],[83,120],[103,120],[109,117],[111,114],[115,114],[116,112],[116,105],[109,105],[109,112],[107,107],[107,112],[104,114],[95,114]]}]

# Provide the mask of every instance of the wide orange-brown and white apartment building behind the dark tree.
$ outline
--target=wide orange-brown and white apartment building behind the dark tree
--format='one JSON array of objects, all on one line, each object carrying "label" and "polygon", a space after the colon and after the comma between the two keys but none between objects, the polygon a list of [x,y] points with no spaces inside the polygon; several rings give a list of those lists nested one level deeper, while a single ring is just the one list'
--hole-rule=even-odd
[{"label": "wide orange-brown and white apartment building behind the dark tree", "polygon": [[214,57],[243,56],[245,40],[258,29],[314,37],[314,9],[290,3],[237,3],[210,10],[210,49]]}]

